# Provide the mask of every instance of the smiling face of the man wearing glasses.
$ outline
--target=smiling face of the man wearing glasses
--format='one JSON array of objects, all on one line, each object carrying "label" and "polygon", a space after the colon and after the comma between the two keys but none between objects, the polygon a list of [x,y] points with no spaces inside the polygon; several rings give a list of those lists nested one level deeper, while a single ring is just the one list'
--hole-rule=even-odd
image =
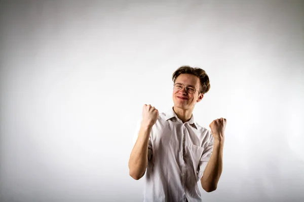
[{"label": "smiling face of the man wearing glasses", "polygon": [[192,74],[180,74],[175,83],[181,83],[187,85],[187,87],[197,89],[195,93],[188,93],[183,86],[180,90],[173,90],[173,103],[174,107],[187,110],[195,106],[197,102],[200,102],[203,98],[203,94],[199,93],[200,90],[200,79],[199,77]]}]

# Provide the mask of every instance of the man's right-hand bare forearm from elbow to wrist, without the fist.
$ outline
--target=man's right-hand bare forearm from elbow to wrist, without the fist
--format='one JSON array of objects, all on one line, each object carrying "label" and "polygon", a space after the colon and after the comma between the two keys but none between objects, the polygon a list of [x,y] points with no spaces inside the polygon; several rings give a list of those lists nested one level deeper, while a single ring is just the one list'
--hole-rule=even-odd
[{"label": "man's right-hand bare forearm from elbow to wrist, without the fist", "polygon": [[214,140],[212,155],[201,179],[202,187],[207,192],[214,191],[217,188],[223,167],[223,145],[223,139]]}]

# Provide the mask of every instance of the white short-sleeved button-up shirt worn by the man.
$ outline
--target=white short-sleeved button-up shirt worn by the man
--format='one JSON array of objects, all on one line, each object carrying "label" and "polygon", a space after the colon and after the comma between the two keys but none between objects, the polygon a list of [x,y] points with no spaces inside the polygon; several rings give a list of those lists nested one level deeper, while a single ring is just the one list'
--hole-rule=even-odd
[{"label": "white short-sleeved button-up shirt worn by the man", "polygon": [[[136,138],[138,132],[139,127]],[[144,201],[202,201],[198,182],[213,143],[211,132],[199,126],[193,115],[182,123],[173,108],[160,113],[149,137]]]}]

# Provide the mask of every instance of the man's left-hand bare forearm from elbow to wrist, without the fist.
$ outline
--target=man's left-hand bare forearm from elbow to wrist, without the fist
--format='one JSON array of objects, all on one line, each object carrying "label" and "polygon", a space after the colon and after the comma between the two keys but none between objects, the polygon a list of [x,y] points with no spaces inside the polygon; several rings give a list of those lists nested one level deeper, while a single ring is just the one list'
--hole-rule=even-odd
[{"label": "man's left-hand bare forearm from elbow to wrist, without the fist", "polygon": [[129,159],[130,176],[140,179],[148,164],[148,141],[152,127],[141,126]]}]

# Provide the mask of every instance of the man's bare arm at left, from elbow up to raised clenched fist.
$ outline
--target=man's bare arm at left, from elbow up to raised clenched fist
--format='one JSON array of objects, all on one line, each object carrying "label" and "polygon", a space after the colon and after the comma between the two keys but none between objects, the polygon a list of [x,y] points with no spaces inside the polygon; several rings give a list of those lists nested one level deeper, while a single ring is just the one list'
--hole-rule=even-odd
[{"label": "man's bare arm at left, from elbow up to raised clenched fist", "polygon": [[150,105],[143,106],[141,126],[129,159],[129,173],[135,180],[139,180],[147,168],[150,132],[158,116],[157,109]]}]

